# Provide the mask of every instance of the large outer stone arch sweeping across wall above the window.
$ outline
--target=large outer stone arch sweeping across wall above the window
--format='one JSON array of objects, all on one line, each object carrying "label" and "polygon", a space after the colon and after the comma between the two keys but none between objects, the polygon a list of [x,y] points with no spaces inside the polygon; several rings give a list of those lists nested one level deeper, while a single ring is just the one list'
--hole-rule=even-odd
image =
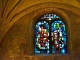
[{"label": "large outer stone arch sweeping across wall above the window", "polygon": [[[45,2],[45,3],[40,3],[40,4],[36,4],[33,6],[30,6],[16,14],[14,14],[14,16],[11,16],[10,18],[8,18],[10,20],[9,23],[7,23],[2,31],[0,32],[2,35],[0,36],[0,42],[3,39],[3,37],[5,36],[6,32],[9,30],[9,28],[17,21],[19,20],[21,17],[23,17],[24,15],[33,12],[33,14],[35,15],[35,11],[38,11],[40,9],[45,9],[47,11],[47,9],[51,10],[52,8],[61,8],[61,9],[66,9],[72,12],[75,12],[76,14],[79,14],[79,8],[65,4],[65,3],[59,3],[59,2]],[[51,10],[52,11],[52,10]],[[57,10],[56,10],[57,11]],[[59,10],[58,10],[59,11]],[[50,12],[50,11],[49,11]],[[65,15],[65,14],[64,14]],[[34,16],[32,16],[32,19],[34,18]],[[8,19],[6,19],[8,21]],[[69,20],[68,20],[69,21]],[[68,22],[67,21],[67,22]],[[67,24],[68,25],[68,24]]]}]

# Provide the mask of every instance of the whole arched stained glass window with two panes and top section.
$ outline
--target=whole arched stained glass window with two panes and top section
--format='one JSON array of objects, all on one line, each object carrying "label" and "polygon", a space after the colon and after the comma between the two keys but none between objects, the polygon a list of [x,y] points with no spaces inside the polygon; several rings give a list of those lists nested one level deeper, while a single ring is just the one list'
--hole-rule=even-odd
[{"label": "whole arched stained glass window with two panes and top section", "polygon": [[45,14],[35,25],[36,54],[67,53],[66,26],[56,14]]}]

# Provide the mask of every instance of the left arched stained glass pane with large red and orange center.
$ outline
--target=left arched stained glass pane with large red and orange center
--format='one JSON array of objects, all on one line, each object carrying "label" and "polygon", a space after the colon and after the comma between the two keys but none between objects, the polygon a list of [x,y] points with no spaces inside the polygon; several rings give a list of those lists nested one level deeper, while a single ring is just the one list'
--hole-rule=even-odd
[{"label": "left arched stained glass pane with large red and orange center", "polygon": [[49,53],[49,25],[46,21],[35,26],[35,53]]}]

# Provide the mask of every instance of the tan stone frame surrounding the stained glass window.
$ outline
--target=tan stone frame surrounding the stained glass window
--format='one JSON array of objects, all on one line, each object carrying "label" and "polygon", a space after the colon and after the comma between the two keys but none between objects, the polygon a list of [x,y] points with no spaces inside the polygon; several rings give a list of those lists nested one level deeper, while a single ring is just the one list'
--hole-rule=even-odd
[{"label": "tan stone frame surrounding the stained glass window", "polygon": [[[67,54],[71,54],[71,50],[72,50],[71,45],[72,44],[70,43],[71,42],[70,41],[70,22],[69,22],[69,18],[67,17],[67,15],[63,11],[61,11],[57,8],[42,8],[42,9],[38,9],[36,11],[34,11],[34,13],[33,13],[33,18],[32,18],[32,22],[31,22],[31,29],[30,29],[30,35],[31,35],[30,55],[37,55],[34,53],[34,30],[35,30],[34,27],[35,27],[35,23],[37,20],[39,20],[39,18],[41,16],[43,16],[44,14],[48,14],[48,13],[59,15],[62,18],[62,21],[65,23],[66,30],[67,30],[66,31],[66,33],[67,33]],[[42,54],[38,54],[38,55],[42,55]],[[43,54],[43,55],[46,55],[46,54]],[[51,55],[57,55],[57,54],[51,54]],[[58,54],[58,55],[62,55],[62,54]]]}]

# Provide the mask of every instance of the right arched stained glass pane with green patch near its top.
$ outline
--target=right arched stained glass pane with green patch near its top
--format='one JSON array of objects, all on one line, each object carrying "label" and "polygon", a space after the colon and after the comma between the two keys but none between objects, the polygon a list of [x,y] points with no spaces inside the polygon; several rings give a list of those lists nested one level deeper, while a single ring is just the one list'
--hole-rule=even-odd
[{"label": "right arched stained glass pane with green patch near its top", "polygon": [[52,53],[66,53],[66,28],[65,24],[56,20],[51,25]]}]

